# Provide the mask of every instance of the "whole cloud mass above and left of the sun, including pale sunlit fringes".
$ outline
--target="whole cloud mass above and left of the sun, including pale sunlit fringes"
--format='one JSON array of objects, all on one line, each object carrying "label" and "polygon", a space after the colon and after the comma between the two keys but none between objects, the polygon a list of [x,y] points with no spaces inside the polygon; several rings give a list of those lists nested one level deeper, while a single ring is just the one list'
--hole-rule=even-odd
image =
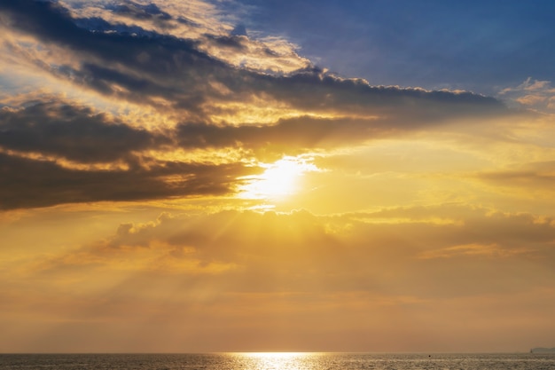
[{"label": "whole cloud mass above and left of the sun, including pale sunlit fringes", "polygon": [[4,65],[60,82],[2,102],[3,209],[233,194],[261,161],[513,114],[471,92],[340,78],[290,44],[185,25],[165,5],[0,4]]}]

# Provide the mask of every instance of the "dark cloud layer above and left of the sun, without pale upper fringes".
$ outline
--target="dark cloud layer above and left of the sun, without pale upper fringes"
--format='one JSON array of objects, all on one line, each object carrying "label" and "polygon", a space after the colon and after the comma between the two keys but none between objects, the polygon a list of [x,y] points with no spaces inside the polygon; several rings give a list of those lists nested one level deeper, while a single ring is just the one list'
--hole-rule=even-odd
[{"label": "dark cloud layer above and left of the sun, without pale upper fringes", "polygon": [[[109,98],[151,106],[161,114],[187,117],[162,132],[137,129],[122,118],[61,99],[6,106],[0,111],[3,209],[226,193],[246,173],[240,163],[160,161],[143,154],[149,150],[233,147],[277,159],[310,149],[359,145],[464,117],[509,114],[496,99],[470,92],[375,87],[318,67],[261,73],[234,67],[200,47],[208,40],[240,55],[251,42],[246,35],[178,38],[98,18],[73,19],[54,2],[7,0],[0,12],[7,14],[5,29],[32,35],[44,50],[56,45],[66,52],[46,68],[56,77]],[[113,12],[135,20],[171,18],[155,4],[124,2]],[[271,57],[272,52],[268,48],[265,54]],[[256,99],[285,106],[298,117],[277,115],[275,122],[249,125],[214,119],[218,111],[260,107]],[[229,104],[239,107],[227,108]],[[75,165],[123,163],[128,169],[76,169],[62,166],[60,160]]]}]

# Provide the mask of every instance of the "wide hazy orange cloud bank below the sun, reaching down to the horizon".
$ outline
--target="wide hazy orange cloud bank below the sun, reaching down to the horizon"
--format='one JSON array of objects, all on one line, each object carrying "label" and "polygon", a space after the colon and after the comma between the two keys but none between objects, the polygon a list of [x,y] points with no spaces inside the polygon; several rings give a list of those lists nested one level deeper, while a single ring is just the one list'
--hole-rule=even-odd
[{"label": "wide hazy orange cloud bank below the sun, reaching down to the horizon", "polygon": [[[435,221],[442,217],[459,222]],[[324,334],[373,337],[377,331],[394,342],[399,333],[416,335],[409,346],[422,333],[447,338],[453,331],[474,342],[484,325],[520,334],[522,326],[535,334],[552,329],[545,322],[553,307],[546,297],[553,290],[554,236],[551,219],[462,205],[337,216],[165,213],[121,223],[79,248],[4,264],[0,290],[9,299],[0,304],[15,335],[10,345],[19,348],[32,346],[23,337],[42,343],[43,333],[65,338],[67,326],[84,330],[90,323],[92,331],[65,348],[95,345],[90,338],[112,331],[111,345],[127,348],[126,335],[117,335],[122,328],[166,338],[176,329],[194,337],[190,343],[177,335],[193,348],[200,335],[205,350],[214,345],[210,338],[233,333],[250,348],[270,345],[259,333],[282,333],[284,325],[306,335],[300,346]],[[282,339],[273,345],[289,343]],[[331,350],[340,342],[322,345]],[[218,345],[229,348],[225,341]],[[375,345],[384,345],[382,339]]]}]

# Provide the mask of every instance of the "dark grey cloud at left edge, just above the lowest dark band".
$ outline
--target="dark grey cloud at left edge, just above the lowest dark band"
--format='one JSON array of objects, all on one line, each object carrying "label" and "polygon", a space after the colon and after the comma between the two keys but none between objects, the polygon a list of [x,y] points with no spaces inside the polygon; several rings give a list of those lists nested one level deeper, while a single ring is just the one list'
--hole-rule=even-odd
[{"label": "dark grey cloud at left edge, just above the lowest dark band", "polygon": [[118,161],[131,152],[167,144],[169,139],[161,134],[60,101],[0,110],[0,147],[7,150],[95,163]]}]

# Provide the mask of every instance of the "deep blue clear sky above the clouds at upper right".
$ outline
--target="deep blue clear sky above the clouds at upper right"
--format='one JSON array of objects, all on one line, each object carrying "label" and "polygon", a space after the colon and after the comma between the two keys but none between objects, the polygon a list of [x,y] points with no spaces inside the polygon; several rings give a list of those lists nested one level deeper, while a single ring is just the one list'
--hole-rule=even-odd
[{"label": "deep blue clear sky above the clouds at upper right", "polygon": [[551,1],[256,1],[247,28],[284,35],[323,67],[375,84],[486,94],[553,80]]}]

